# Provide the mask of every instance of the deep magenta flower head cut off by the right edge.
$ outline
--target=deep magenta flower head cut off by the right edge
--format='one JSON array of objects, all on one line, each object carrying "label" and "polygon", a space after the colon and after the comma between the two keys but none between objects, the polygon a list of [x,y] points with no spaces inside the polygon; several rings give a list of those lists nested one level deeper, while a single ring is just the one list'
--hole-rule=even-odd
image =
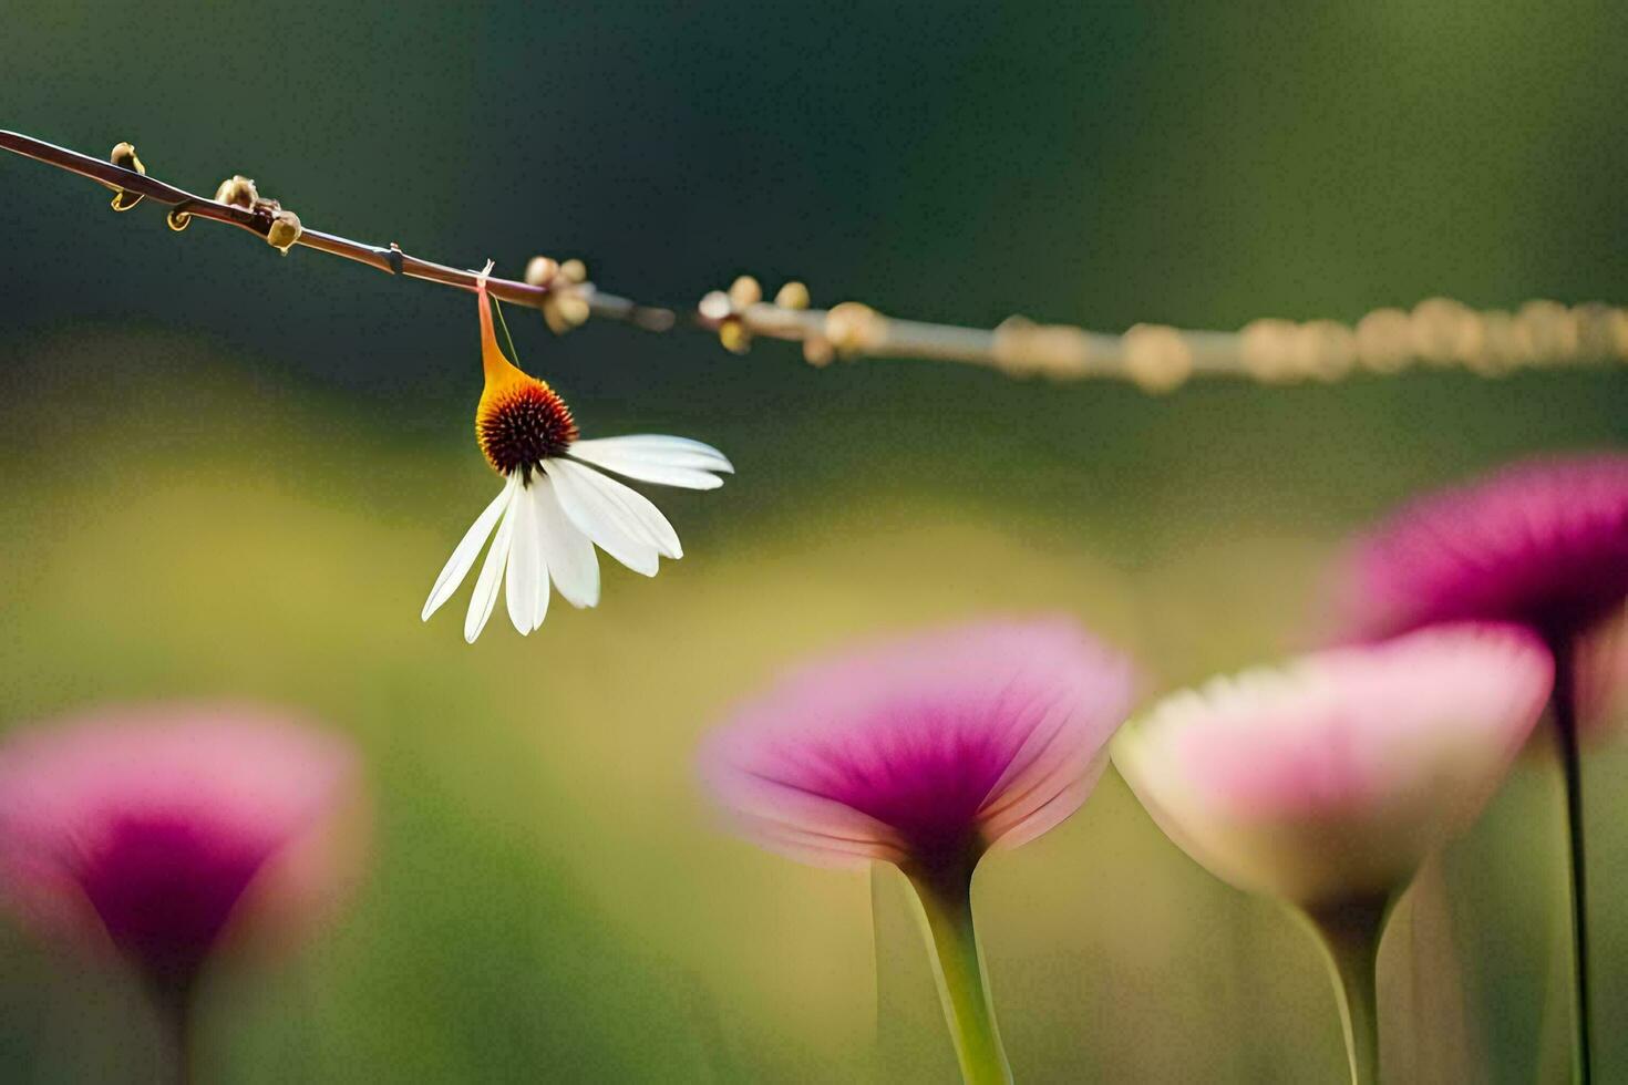
[{"label": "deep magenta flower head cut off by the right edge", "polygon": [[1363,540],[1351,631],[1517,621],[1566,644],[1628,599],[1628,455],[1529,460],[1426,496]]}]

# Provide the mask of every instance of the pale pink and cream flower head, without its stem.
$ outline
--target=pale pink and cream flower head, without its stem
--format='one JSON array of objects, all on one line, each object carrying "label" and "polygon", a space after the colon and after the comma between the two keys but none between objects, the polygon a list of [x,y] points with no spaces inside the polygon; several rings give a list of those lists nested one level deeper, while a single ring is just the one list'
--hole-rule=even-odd
[{"label": "pale pink and cream flower head, without its stem", "polygon": [[1551,682],[1521,626],[1433,626],[1175,693],[1114,761],[1171,839],[1242,890],[1307,908],[1385,895],[1477,818]]}]

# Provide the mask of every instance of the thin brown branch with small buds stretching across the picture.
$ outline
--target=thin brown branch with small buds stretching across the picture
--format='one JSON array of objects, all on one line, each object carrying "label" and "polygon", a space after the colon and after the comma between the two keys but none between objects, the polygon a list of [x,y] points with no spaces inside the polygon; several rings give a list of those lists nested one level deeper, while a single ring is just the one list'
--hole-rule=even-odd
[{"label": "thin brown branch with small buds stretching across the picture", "polygon": [[[459,290],[475,286],[474,272],[409,255],[394,244],[370,246],[304,228],[275,200],[260,198],[254,184],[243,177],[226,181],[215,198],[148,177],[127,143],[114,148],[114,158],[129,161],[133,169],[16,132],[0,132],[0,148],[129,194],[116,197],[119,210],[129,210],[140,198],[168,205],[176,229],[186,228],[190,218],[205,218],[257,234],[283,252],[304,246],[379,272]],[[575,260],[560,265],[536,257],[524,281],[492,278],[488,288],[503,301],[540,309],[557,332],[589,316],[654,332],[679,324],[672,309],[601,291],[586,281],[586,272]],[[1516,368],[1628,361],[1628,309],[1602,303],[1568,307],[1529,301],[1516,312],[1504,312],[1473,311],[1457,301],[1431,298],[1408,311],[1376,309],[1354,325],[1262,319],[1239,332],[1203,332],[1138,324],[1123,335],[1112,335],[1022,317],[996,329],[900,320],[853,301],[809,309],[801,283],[786,283],[773,303],[765,303],[759,285],[741,278],[729,291],[702,298],[684,322],[716,333],[737,353],[746,351],[752,338],[775,338],[801,343],[814,364],[834,358],[925,358],[987,366],[1013,376],[1125,379],[1151,392],[1174,389],[1193,376],[1271,384],[1335,381],[1356,371],[1397,373],[1416,361],[1460,366],[1485,376]]]}]

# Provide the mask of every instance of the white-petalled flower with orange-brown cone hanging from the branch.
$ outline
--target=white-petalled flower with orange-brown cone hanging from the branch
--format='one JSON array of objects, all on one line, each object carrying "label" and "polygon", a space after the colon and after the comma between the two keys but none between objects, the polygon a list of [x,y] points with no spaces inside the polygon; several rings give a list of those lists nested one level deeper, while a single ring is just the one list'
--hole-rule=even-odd
[{"label": "white-petalled flower with orange-brown cone hanging from the branch", "polygon": [[420,615],[428,621],[453,597],[492,538],[464,618],[464,639],[470,644],[505,584],[510,621],[523,636],[540,626],[549,612],[550,579],[573,607],[596,605],[594,545],[645,576],[656,574],[661,558],[684,556],[679,535],[661,509],[602,472],[664,486],[716,490],[723,485],[718,475],[734,470],[723,452],[687,438],[583,441],[565,400],[498,348],[487,296],[490,270],[487,265],[475,290],[485,369],[475,439],[505,483],[453,550]]}]

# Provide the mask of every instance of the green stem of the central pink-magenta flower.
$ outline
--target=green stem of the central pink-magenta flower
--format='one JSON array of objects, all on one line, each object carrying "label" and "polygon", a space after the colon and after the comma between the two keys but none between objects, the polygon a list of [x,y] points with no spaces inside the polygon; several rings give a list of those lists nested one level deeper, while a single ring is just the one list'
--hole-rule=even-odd
[{"label": "green stem of the central pink-magenta flower", "polygon": [[936,960],[934,976],[967,1085],[1011,1085],[1013,1072],[990,1002],[990,981],[972,926],[972,869],[954,874],[912,874],[910,885],[926,914],[926,935]]}]

